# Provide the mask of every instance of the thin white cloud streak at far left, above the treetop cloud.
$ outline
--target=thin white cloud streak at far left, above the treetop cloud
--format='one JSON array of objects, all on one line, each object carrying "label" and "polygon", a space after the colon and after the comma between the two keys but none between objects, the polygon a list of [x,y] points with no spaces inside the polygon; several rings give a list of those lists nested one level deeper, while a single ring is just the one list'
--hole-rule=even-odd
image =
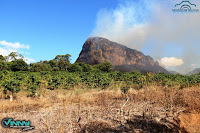
[{"label": "thin white cloud streak at far left, above the treetop cloud", "polygon": [[14,48],[14,49],[29,49],[30,48],[29,45],[20,44],[18,42],[16,43],[6,42],[5,40],[0,41],[0,45],[3,45],[8,48]]}]

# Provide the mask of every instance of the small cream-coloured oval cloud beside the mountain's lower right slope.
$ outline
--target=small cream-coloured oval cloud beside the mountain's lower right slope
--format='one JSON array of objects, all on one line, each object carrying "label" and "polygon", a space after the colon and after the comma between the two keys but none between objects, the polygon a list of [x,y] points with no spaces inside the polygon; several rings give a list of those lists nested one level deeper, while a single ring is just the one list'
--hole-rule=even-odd
[{"label": "small cream-coloured oval cloud beside the mountain's lower right slope", "polygon": [[163,67],[177,67],[184,64],[182,59],[178,59],[176,57],[164,57],[158,60],[159,64]]}]

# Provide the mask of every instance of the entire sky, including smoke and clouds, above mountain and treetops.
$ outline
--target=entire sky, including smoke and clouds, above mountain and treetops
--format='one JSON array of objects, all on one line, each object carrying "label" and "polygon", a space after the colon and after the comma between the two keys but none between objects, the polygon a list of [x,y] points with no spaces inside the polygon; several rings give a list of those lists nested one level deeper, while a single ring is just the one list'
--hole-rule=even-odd
[{"label": "entire sky, including smoke and clouds, above mountain and treetops", "polygon": [[[174,14],[181,0],[0,0],[0,54],[29,62],[71,54],[101,36],[186,73],[200,67],[200,13]],[[200,2],[190,0],[200,9]]]}]

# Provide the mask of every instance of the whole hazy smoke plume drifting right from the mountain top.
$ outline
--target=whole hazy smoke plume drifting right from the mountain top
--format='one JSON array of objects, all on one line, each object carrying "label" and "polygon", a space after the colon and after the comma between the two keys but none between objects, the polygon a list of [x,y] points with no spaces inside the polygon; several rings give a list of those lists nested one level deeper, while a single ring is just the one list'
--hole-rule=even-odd
[{"label": "whole hazy smoke plume drifting right from the mountain top", "polygon": [[[200,7],[199,2],[190,2]],[[165,51],[163,47],[176,44],[174,47],[181,49],[184,64],[175,70],[186,73],[194,68],[192,64],[200,65],[200,12],[175,14],[172,9],[178,3],[179,0],[122,2],[114,10],[99,11],[91,35],[105,37],[137,50],[148,48],[150,56],[157,60],[164,58],[166,52],[174,57],[176,53]]]}]

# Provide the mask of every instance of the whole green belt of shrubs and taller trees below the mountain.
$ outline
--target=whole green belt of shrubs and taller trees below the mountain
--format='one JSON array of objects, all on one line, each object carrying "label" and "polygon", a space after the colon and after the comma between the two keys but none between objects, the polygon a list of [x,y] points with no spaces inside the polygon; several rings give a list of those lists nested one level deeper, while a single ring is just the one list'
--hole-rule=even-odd
[{"label": "whole green belt of shrubs and taller trees below the mountain", "polygon": [[74,86],[105,89],[120,86],[123,92],[129,88],[144,86],[178,87],[179,89],[200,85],[200,76],[171,75],[164,73],[140,73],[113,71],[112,64],[90,66],[85,63],[70,63],[71,55],[57,55],[53,60],[27,64],[22,55],[15,52],[0,56],[0,85],[4,94],[21,90],[34,96],[38,89],[69,89]]}]

